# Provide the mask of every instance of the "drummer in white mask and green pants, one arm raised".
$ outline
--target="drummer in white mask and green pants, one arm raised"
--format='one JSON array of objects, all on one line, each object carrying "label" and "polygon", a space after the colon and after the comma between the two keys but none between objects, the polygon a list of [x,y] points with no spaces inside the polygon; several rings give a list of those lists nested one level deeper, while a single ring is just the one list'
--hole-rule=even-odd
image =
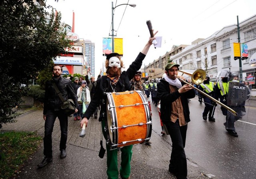
[{"label": "drummer in white mask and green pants, one arm raised", "polygon": [[[156,32],[157,33],[157,32]],[[155,34],[156,34],[155,33]],[[106,101],[107,96],[105,92],[121,92],[121,91],[130,91],[130,80],[134,77],[135,73],[142,66],[142,60],[144,60],[146,54],[150,46],[152,45],[152,41],[155,38],[150,38],[146,43],[146,46],[143,50],[138,54],[136,60],[132,62],[127,71],[121,71],[124,68],[123,62],[118,53],[111,53],[107,55],[106,58],[106,76],[102,76],[97,80],[96,84],[96,95],[91,99],[91,102],[83,115],[83,119],[80,122],[81,127],[84,123],[88,123],[88,119],[94,113],[95,109],[100,103],[100,99],[102,99],[102,107],[100,110],[99,121],[102,121],[102,132],[104,138],[107,140],[107,133],[104,130],[107,122],[106,115]],[[132,112],[132,111],[131,111]],[[110,179],[118,179],[118,162],[117,162],[117,149],[110,150],[110,146],[106,143],[107,148],[107,175]],[[130,178],[130,161],[132,159],[132,145],[124,146],[121,149],[121,167],[120,167],[120,176],[122,179]],[[83,155],[83,154],[82,154]]]}]

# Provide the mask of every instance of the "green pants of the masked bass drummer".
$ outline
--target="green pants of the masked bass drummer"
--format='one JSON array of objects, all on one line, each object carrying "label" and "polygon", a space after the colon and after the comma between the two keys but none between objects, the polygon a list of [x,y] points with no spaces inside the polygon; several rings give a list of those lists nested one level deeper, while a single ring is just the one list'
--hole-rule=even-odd
[{"label": "green pants of the masked bass drummer", "polygon": [[[106,132],[104,131],[105,121],[102,121],[102,132],[104,138],[107,140]],[[131,159],[132,159],[132,146],[128,145],[120,148],[121,151],[121,166],[120,166],[120,176],[123,178],[128,178],[131,172]],[[107,175],[108,179],[118,179],[118,166],[117,166],[117,149],[110,150],[108,144],[107,148]]]}]

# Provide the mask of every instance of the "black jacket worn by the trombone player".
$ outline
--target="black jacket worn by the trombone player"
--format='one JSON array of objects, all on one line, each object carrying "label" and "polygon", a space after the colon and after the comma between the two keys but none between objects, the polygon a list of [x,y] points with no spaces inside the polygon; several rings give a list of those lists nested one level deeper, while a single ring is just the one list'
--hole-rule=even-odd
[{"label": "black jacket worn by the trombone player", "polygon": [[[181,84],[182,86],[185,85],[185,83],[181,83]],[[178,91],[170,93],[169,83],[166,82],[164,78],[161,79],[160,82],[157,84],[157,97],[161,101],[160,108],[161,108],[162,122],[166,123],[167,121],[171,120],[170,119],[171,111],[174,110],[174,109],[171,109],[172,102],[178,99],[178,97],[181,97],[185,121],[188,123],[190,121],[188,99],[193,98],[195,96],[196,96],[196,93],[194,90],[189,90],[181,94]]]}]

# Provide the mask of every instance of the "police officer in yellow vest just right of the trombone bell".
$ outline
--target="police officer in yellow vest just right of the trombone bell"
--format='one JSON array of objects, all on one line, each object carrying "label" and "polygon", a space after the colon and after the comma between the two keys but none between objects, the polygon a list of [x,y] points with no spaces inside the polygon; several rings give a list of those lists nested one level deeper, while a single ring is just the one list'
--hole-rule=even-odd
[{"label": "police officer in yellow vest just right of the trombone bell", "polygon": [[[211,97],[214,96],[214,83],[210,82],[210,77],[207,74],[204,82],[199,85],[199,90],[210,95]],[[205,105],[204,112],[203,112],[203,119],[206,121],[207,115],[208,115],[209,116],[208,120],[215,122],[215,119],[213,117],[214,114],[212,113],[214,108],[214,105],[212,105],[213,101],[205,95],[202,95],[202,98],[204,99],[204,105]]]}]

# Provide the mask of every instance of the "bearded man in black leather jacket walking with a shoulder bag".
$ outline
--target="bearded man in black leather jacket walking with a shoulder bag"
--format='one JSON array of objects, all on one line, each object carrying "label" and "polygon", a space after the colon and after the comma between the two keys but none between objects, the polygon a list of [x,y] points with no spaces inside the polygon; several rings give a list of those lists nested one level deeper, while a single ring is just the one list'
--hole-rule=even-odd
[{"label": "bearded man in black leather jacket walking with a shoulder bag", "polygon": [[68,115],[60,108],[62,101],[58,96],[56,90],[53,87],[53,83],[56,84],[60,90],[64,100],[68,100],[70,96],[76,105],[76,112],[78,111],[78,102],[76,93],[71,85],[71,81],[62,78],[62,67],[54,65],[52,67],[52,80],[46,82],[45,94],[44,94],[44,160],[39,163],[38,167],[44,167],[47,163],[52,161],[52,130],[56,117],[60,121],[60,158],[66,157],[66,141],[68,137]]}]

